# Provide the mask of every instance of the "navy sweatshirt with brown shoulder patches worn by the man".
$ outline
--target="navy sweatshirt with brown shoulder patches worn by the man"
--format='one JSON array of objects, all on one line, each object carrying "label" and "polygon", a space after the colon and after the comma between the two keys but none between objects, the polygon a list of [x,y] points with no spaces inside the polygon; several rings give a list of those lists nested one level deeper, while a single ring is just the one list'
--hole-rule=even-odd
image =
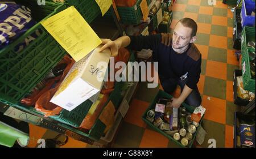
[{"label": "navy sweatshirt with brown shoulder patches worn by the man", "polygon": [[153,50],[153,59],[158,61],[159,78],[179,79],[188,72],[186,85],[196,89],[201,73],[201,54],[195,44],[189,44],[189,48],[182,54],[177,54],[172,45],[166,46],[161,43],[162,35],[129,36],[130,45],[127,48],[141,51],[142,49]]}]

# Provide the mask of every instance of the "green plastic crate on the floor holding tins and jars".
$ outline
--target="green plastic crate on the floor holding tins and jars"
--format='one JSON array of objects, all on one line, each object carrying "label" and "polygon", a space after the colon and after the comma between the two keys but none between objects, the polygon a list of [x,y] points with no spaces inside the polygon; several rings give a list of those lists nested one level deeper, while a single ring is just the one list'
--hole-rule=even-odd
[{"label": "green plastic crate on the floor holding tins and jars", "polygon": [[[154,108],[155,108],[155,104],[156,104],[156,102],[159,100],[159,98],[172,98],[172,96],[171,96],[170,94],[168,94],[168,93],[162,91],[162,90],[159,90],[159,92],[158,92],[158,94],[156,95],[154,101],[152,101],[152,103],[150,104],[150,106],[148,106],[147,110],[146,110],[146,111],[144,112],[144,114],[142,115],[142,120],[143,120],[144,122],[146,122],[146,123],[148,124],[148,126],[150,126],[151,128],[153,128],[155,131],[157,131],[157,132],[159,132],[160,134],[166,136],[168,139],[174,141],[174,143],[176,143],[176,144],[179,145],[180,147],[184,147],[184,145],[182,145],[179,141],[176,141],[171,135],[166,134],[166,132],[160,130],[160,128],[154,126],[154,124],[152,124],[150,121],[148,121],[148,120],[146,119],[146,117],[147,117],[147,111],[150,110],[150,109],[154,109]],[[182,105],[183,105],[183,106],[186,108],[186,110],[189,111],[190,113],[193,113],[193,111],[195,110],[195,107],[193,107],[193,106],[187,105],[187,104],[185,104],[185,103],[183,103]],[[199,123],[199,127],[201,126],[201,122],[202,122],[202,121],[203,121],[203,119],[201,119],[201,121],[200,121],[200,123]],[[199,127],[197,127],[197,130],[198,130]],[[193,142],[194,142],[195,139],[196,139],[197,130],[196,130],[195,134],[193,134],[193,139],[192,139],[191,141],[189,141],[187,147],[189,147],[189,148],[192,147]]]}]

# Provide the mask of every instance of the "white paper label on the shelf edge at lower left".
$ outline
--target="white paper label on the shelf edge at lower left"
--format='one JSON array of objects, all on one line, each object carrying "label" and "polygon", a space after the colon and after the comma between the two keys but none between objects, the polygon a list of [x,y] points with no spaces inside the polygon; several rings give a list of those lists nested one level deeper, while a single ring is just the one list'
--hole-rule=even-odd
[{"label": "white paper label on the shelf edge at lower left", "polygon": [[8,108],[5,111],[4,115],[9,116],[11,118],[19,119],[20,121],[24,121],[24,122],[28,122],[36,125],[39,125],[40,122],[43,120],[42,118],[36,117],[35,115],[28,114],[28,113],[25,113],[24,111],[20,111],[16,108],[13,108],[12,106],[10,106],[10,108]]}]

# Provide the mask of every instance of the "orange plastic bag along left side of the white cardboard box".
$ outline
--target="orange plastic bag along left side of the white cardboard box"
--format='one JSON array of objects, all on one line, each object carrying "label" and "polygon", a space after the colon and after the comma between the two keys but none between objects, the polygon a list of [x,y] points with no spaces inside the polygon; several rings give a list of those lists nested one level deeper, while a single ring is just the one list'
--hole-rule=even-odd
[{"label": "orange plastic bag along left side of the white cardboard box", "polygon": [[35,104],[35,109],[43,112],[45,117],[49,117],[52,115],[59,114],[60,111],[63,109],[60,106],[49,102],[51,98],[54,96],[55,92],[59,88],[61,82],[64,80],[65,76],[68,74],[68,71],[71,69],[75,61],[68,56],[64,57],[64,60],[67,62],[67,67],[65,68],[63,75],[60,78],[60,81],[56,84],[55,88],[49,89],[48,91],[44,92],[42,96],[38,98]]}]

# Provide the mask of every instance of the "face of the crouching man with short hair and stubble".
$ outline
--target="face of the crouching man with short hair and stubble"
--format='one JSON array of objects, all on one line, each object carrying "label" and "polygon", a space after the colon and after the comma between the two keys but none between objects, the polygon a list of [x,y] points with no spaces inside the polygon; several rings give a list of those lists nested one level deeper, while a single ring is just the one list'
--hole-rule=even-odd
[{"label": "face of the crouching man with short hair and stubble", "polygon": [[172,47],[174,49],[181,49],[191,42],[192,29],[184,27],[180,22],[176,24],[174,33],[172,34]]}]

